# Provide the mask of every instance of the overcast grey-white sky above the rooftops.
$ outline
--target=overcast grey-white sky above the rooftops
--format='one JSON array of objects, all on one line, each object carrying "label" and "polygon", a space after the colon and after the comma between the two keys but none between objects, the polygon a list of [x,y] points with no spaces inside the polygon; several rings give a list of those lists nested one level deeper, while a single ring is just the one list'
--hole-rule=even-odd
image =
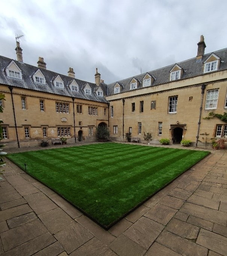
[{"label": "overcast grey-white sky above the rooftops", "polygon": [[0,55],[105,83],[227,47],[225,0],[0,0]]}]

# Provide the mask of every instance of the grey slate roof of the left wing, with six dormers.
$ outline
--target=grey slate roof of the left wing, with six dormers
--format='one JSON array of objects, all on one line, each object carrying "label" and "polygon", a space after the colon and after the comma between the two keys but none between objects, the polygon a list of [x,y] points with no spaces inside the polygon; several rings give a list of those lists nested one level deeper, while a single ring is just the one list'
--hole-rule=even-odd
[{"label": "grey slate roof of the left wing, with six dormers", "polygon": [[[95,87],[97,85],[95,83],[89,83],[87,81],[82,81],[77,78],[68,77],[66,75],[61,75],[53,71],[49,71],[46,69],[40,69],[42,74],[45,77],[46,84],[38,84],[33,81],[32,75],[39,69],[36,66],[32,66],[17,60],[14,60],[17,66],[22,71],[22,80],[11,78],[6,75],[5,67],[11,63],[12,59],[0,56],[0,84],[6,84],[6,85],[12,85],[15,87],[21,87],[25,89],[30,90],[36,90],[41,92],[48,92],[50,94],[57,94],[57,95],[64,95],[69,97],[75,97],[85,100],[92,100],[92,101],[98,101],[98,102],[104,102],[107,103],[105,97],[97,96],[95,93]],[[64,89],[54,87],[53,80],[58,75],[60,75],[61,79],[64,81]],[[68,86],[73,79],[76,81],[76,83],[79,86],[79,92],[70,90],[70,87]],[[85,94],[82,87],[86,84],[89,84],[92,90],[92,94]],[[104,83],[101,83],[101,88],[104,92],[104,95],[107,93],[107,85]]]}]

